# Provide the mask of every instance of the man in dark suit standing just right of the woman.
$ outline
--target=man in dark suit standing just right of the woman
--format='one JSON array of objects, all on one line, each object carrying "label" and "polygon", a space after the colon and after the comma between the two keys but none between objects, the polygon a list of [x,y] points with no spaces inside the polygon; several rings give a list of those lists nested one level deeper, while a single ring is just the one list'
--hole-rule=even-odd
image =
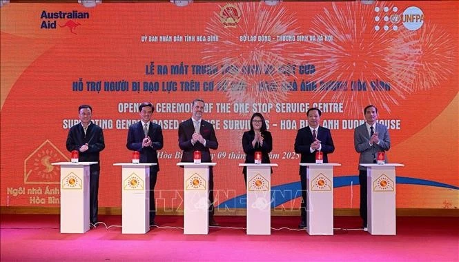
[{"label": "man in dark suit standing just right of the woman", "polygon": [[[320,126],[320,115],[318,108],[309,108],[306,112],[308,126],[298,130],[295,139],[295,152],[301,154],[301,163],[315,163],[315,153],[322,151],[324,154],[323,163],[329,163],[328,154],[335,151],[331,132],[328,128]],[[301,221],[298,228],[306,228],[307,225],[307,192],[306,192],[306,167],[300,166],[301,180]]]}]

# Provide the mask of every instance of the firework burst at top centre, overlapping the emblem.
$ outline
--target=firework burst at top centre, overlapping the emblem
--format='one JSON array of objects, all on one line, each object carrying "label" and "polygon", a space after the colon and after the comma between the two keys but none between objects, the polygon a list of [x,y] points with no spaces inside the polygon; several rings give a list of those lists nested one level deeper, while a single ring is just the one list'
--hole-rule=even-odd
[{"label": "firework burst at top centre, overlapping the emblem", "polygon": [[[219,8],[228,10],[228,6]],[[300,63],[300,55],[297,42],[277,41],[277,36],[300,34],[295,14],[261,2],[235,3],[229,10],[211,17],[206,33],[220,41],[206,43],[202,51],[204,61],[218,68],[213,74],[217,90],[233,103],[286,100],[293,77],[289,68]],[[222,13],[231,13],[231,22],[238,22],[225,26]]]}]

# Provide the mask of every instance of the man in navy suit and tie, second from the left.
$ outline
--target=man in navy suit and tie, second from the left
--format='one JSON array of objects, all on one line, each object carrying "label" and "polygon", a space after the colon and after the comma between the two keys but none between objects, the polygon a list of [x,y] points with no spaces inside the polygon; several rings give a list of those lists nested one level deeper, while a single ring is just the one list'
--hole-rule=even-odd
[{"label": "man in navy suit and tie, second from the left", "polygon": [[155,225],[155,185],[159,171],[157,150],[163,148],[163,133],[161,126],[150,121],[155,108],[150,102],[139,105],[140,121],[129,127],[128,150],[140,152],[140,163],[157,163],[150,166],[150,225]]}]

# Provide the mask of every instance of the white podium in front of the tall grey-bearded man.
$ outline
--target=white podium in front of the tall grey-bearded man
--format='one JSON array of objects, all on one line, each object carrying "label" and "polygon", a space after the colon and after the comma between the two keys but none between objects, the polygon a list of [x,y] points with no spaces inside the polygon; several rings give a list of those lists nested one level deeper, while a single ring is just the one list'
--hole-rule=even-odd
[{"label": "white podium in front of the tall grey-bearded man", "polygon": [[217,163],[177,165],[184,167],[184,234],[208,234],[209,167]]}]

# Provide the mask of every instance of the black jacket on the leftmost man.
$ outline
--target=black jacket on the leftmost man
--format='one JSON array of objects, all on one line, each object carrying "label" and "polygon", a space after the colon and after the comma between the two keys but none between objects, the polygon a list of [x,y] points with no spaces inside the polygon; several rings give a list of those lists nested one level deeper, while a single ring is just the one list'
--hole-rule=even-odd
[{"label": "black jacket on the leftmost man", "polygon": [[[79,152],[79,148],[81,148],[81,145],[84,145],[85,143],[88,143],[88,150],[85,152]],[[104,133],[99,125],[95,125],[95,123],[91,122],[90,125],[88,125],[86,134],[84,134],[83,125],[81,125],[81,123],[73,125],[70,130],[68,130],[66,147],[69,152],[72,152],[73,150],[78,151],[78,161],[97,161],[97,164],[89,166],[89,170],[91,172],[100,170],[99,152],[104,150],[105,142]]]}]

